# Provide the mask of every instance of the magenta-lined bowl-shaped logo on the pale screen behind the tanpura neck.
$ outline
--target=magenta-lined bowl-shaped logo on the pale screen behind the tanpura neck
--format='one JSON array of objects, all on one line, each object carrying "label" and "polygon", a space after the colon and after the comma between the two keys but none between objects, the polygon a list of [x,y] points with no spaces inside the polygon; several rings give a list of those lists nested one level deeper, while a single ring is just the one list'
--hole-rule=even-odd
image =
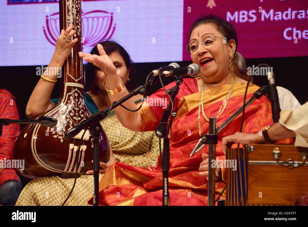
[{"label": "magenta-lined bowl-shaped logo on the pale screen behind the tanpura neck", "polygon": [[[115,31],[113,13],[94,10],[82,13],[82,44],[93,47],[103,40],[109,40]],[[46,39],[55,46],[59,31],[59,12],[46,16],[46,25],[43,27]]]}]

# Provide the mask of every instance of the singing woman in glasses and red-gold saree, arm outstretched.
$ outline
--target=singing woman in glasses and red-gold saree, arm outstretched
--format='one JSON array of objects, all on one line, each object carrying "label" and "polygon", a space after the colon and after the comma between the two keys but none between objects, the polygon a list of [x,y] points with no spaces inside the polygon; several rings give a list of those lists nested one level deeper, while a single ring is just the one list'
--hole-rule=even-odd
[{"label": "singing woman in glasses and red-gold saree, arm outstretched", "polygon": [[[110,101],[117,101],[127,95],[128,91],[103,47],[98,46],[98,49],[100,56],[82,52],[79,56],[104,70]],[[189,154],[200,136],[209,132],[210,117],[217,118],[218,127],[243,104],[246,81],[233,74],[236,49],[237,35],[229,22],[216,16],[205,16],[194,22],[187,50],[191,53],[193,63],[198,64],[201,70],[197,78],[184,78],[174,102],[177,113],[170,130],[171,205],[207,205],[208,146],[193,157]],[[175,82],[165,88],[174,85]],[[258,88],[249,84],[247,99]],[[155,98],[166,99],[169,103],[163,89],[151,95],[148,100]],[[136,109],[139,105],[129,101],[124,103],[129,109]],[[123,107],[115,108],[119,121],[133,131],[155,130],[163,111],[163,107],[155,105],[143,105],[137,112],[124,111]],[[222,137],[238,132],[240,122],[241,116],[238,116],[219,133],[216,146],[218,159],[225,159]],[[270,102],[266,97],[261,97],[246,109],[243,132],[258,132],[272,123]],[[161,205],[160,157],[157,163],[156,168],[149,170],[115,162],[99,183],[99,204]],[[216,168],[216,171],[217,197],[225,186],[224,166]],[[91,199],[89,203],[92,203]]]}]

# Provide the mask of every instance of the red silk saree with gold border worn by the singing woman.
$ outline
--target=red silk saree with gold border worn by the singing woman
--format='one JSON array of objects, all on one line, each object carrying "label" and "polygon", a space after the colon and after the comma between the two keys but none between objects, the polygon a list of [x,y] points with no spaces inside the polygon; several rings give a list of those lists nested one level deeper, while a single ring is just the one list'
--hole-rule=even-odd
[{"label": "red silk saree with gold border worn by the singing woman", "polygon": [[[175,82],[167,85],[168,90]],[[204,92],[204,112],[207,118],[216,117],[223,99],[225,99],[232,84],[224,84]],[[217,119],[219,127],[229,116],[243,105],[246,83],[237,83],[233,89],[225,111]],[[246,100],[252,97],[253,92],[259,87],[249,84]],[[156,98],[156,100],[155,100]],[[207,205],[206,177],[199,175],[199,166],[202,162],[201,153],[208,153],[205,146],[193,157],[189,154],[199,140],[198,130],[198,105],[200,92],[196,79],[185,78],[180,85],[179,93],[174,102],[177,108],[176,117],[173,120],[170,133],[170,171],[169,194],[171,205]],[[161,116],[166,108],[157,106],[169,99],[163,89],[158,90],[148,99],[151,106],[143,106],[140,114],[143,123],[143,131],[152,131],[158,126]],[[151,104],[151,100],[153,101]],[[140,105],[140,104],[139,104]],[[139,106],[137,104],[137,106]],[[209,122],[201,113],[201,134],[209,131]],[[245,119],[242,132],[258,132],[265,126],[273,124],[271,104],[266,97],[254,101],[245,110]],[[223,137],[239,132],[241,115],[233,120],[218,134],[216,156],[225,159],[221,140]],[[290,141],[290,140],[289,140]],[[161,205],[162,204],[162,173],[160,158],[157,159],[157,167],[152,170],[130,166],[116,162],[103,175],[99,182],[100,205]],[[216,197],[225,187],[225,171],[221,168],[222,180],[215,183]],[[92,199],[89,204],[93,204]]]}]

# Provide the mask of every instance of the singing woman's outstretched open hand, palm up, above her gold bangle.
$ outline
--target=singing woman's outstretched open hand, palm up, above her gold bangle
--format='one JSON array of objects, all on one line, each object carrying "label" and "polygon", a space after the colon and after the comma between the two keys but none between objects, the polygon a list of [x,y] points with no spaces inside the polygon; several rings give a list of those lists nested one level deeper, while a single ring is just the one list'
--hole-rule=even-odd
[{"label": "singing woman's outstretched open hand, palm up, above her gold bangle", "polygon": [[101,44],[97,44],[97,49],[100,56],[96,54],[91,55],[89,53],[79,52],[79,57],[82,57],[83,60],[95,64],[95,66],[102,69],[106,77],[115,75],[116,68],[113,65],[113,62],[111,61],[110,57],[106,54],[103,46]]}]

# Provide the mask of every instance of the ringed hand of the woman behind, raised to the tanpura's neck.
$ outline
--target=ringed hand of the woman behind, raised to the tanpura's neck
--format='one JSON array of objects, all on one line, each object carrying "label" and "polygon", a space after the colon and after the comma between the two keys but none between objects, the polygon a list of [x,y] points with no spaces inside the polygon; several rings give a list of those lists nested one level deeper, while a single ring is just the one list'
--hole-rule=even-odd
[{"label": "ringed hand of the woman behind, raised to the tanpura's neck", "polygon": [[[53,58],[57,61],[65,61],[71,54],[72,47],[78,42],[78,38],[71,41],[71,37],[76,33],[72,30],[74,26],[68,27],[65,31],[62,29],[60,36],[56,42],[56,48]],[[66,37],[66,38],[64,38]]]}]

